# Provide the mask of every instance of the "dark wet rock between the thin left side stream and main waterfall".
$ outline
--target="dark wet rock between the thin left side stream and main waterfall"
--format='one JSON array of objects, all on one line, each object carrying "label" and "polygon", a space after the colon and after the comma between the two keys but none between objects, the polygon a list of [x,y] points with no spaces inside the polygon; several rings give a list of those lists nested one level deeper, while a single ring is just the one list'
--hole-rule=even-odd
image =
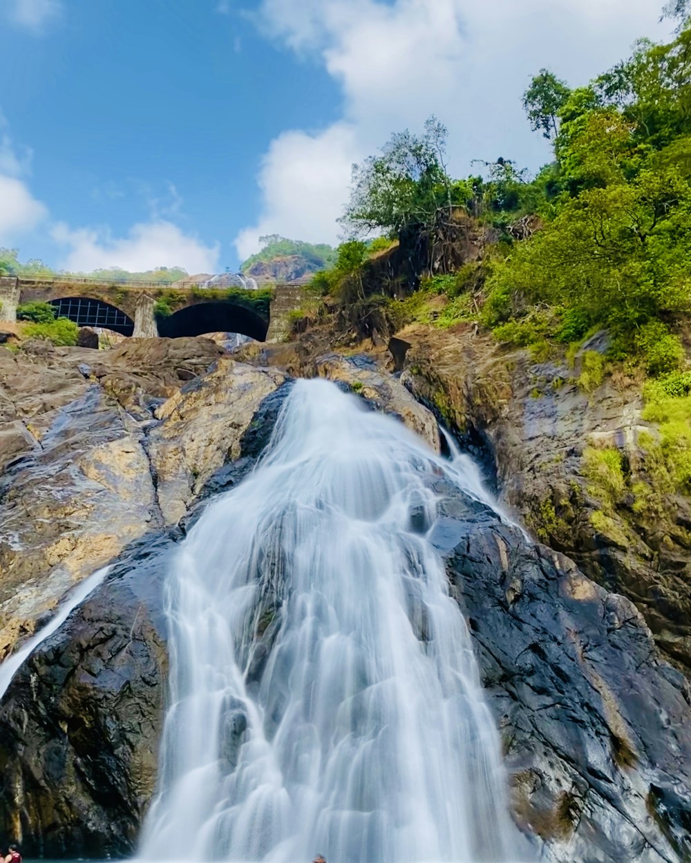
[{"label": "dark wet rock between the thin left side stream and main waterfall", "polygon": [[130,551],[22,666],[0,712],[0,834],[25,856],[131,854],[166,701],[169,539]]}]

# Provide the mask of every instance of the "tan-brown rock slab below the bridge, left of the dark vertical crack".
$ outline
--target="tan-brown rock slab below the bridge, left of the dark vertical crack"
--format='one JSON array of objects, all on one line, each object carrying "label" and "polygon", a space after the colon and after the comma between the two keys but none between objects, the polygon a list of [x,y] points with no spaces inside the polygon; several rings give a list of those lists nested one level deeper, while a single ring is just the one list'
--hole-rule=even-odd
[{"label": "tan-brown rock slab below the bridge, left of the dark vertical crack", "polygon": [[0,348],[0,657],[72,584],[162,521],[147,404],[177,392],[176,366],[199,373],[223,356],[206,339],[38,349]]}]

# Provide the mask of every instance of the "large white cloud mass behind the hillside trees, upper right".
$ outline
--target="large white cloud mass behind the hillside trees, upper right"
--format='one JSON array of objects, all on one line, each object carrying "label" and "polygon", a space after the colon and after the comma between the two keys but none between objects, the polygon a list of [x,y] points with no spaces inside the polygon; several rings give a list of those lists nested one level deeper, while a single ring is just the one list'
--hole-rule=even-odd
[{"label": "large white cloud mass behind the hillside trees, upper right", "polygon": [[531,74],[548,66],[585,83],[639,36],[665,35],[659,14],[654,0],[263,0],[262,30],[316,58],[340,86],[343,110],[327,129],[271,143],[258,177],[261,217],[236,237],[239,254],[268,227],[333,241],[348,198],[345,163],[393,131],[421,129],[430,114],[449,127],[453,173],[499,155],[538,167],[549,151],[521,108]]}]

